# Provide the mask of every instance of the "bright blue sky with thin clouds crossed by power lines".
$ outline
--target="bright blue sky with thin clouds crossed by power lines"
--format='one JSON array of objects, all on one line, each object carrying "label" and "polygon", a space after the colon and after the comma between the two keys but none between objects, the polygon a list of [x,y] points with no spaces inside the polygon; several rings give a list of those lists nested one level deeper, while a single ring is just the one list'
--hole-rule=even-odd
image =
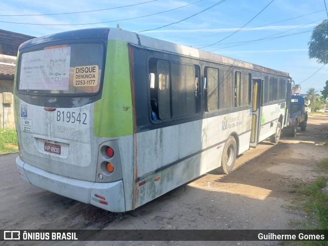
[{"label": "bright blue sky with thin clouds crossed by power lines", "polygon": [[2,0],[0,29],[44,36],[119,24],[124,30],[289,72],[301,84],[301,93],[311,87],[320,93],[328,65],[309,59],[308,42],[327,15],[324,0]]}]

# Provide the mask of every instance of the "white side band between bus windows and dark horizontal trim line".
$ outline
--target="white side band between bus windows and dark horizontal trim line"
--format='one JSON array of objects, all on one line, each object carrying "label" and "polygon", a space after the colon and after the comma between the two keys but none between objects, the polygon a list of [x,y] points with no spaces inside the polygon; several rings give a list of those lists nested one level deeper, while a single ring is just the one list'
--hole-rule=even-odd
[{"label": "white side band between bus windows and dark horizontal trim line", "polygon": [[[250,134],[250,131],[250,110],[244,110],[140,132],[137,134],[138,176],[165,167],[186,156],[195,155],[197,152],[217,148],[233,132],[239,136]],[[218,166],[217,164],[216,167]]]}]

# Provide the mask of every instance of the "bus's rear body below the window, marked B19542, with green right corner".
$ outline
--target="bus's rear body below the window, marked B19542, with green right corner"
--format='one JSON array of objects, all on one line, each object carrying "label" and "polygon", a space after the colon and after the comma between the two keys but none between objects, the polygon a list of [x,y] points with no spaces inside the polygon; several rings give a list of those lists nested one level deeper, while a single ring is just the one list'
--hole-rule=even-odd
[{"label": "bus's rear body below the window, marked B19542, with green right corner", "polygon": [[[42,42],[36,40],[34,44]],[[134,170],[133,107],[130,74],[126,72],[129,71],[129,55],[125,42],[109,40],[107,46],[102,95],[95,103],[86,104],[88,99],[77,96],[71,100],[72,104],[64,108],[46,110],[56,105],[54,103],[59,98],[55,94],[49,96],[48,101],[43,99],[47,96],[36,95],[34,98],[45,103],[38,101],[38,105],[33,105],[19,98],[26,95],[19,94],[15,86],[15,121],[21,156],[17,159],[17,168],[21,177],[35,186],[106,210],[123,212],[133,209],[131,194],[134,187],[134,173],[130,175]],[[83,106],[78,107],[81,104]],[[98,155],[99,146],[115,139],[118,148],[125,150],[121,162],[124,163],[122,170],[127,181],[104,183],[99,178],[99,174],[104,175],[101,170],[104,160]],[[116,151],[115,156],[119,155]],[[110,198],[109,205],[99,203],[94,198],[94,192]],[[126,207],[127,194],[130,195]]]}]

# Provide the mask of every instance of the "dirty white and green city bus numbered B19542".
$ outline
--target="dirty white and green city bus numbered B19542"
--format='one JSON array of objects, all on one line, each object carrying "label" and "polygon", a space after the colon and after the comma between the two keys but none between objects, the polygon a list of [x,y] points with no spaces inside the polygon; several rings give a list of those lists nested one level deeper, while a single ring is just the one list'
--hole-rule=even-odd
[{"label": "dirty white and green city bus numbered B19542", "polygon": [[291,76],[117,28],[19,47],[20,177],[112,212],[133,210],[286,126]]}]

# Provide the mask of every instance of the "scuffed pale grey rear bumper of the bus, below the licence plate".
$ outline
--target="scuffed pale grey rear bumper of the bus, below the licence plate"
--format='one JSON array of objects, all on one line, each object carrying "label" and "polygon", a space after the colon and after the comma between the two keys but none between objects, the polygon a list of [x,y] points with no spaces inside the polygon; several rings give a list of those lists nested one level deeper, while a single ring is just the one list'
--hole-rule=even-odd
[{"label": "scuffed pale grey rear bumper of the bus, below the licence plate", "polygon": [[20,177],[34,186],[111,212],[126,211],[122,180],[99,183],[68,178],[33,167],[19,156],[16,165]]}]

